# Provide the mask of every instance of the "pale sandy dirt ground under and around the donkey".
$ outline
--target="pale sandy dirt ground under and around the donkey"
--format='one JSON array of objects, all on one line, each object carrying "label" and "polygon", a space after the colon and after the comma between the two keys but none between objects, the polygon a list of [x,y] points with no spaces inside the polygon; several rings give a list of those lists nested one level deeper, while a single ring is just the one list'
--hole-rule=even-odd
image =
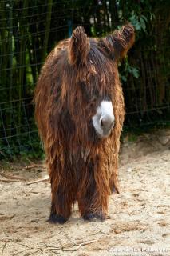
[{"label": "pale sandy dirt ground under and around the donkey", "polygon": [[[85,222],[77,206],[63,226],[46,222],[49,182],[41,163],[0,166],[0,255],[170,255],[170,130],[125,138],[121,194],[105,222]],[[23,178],[23,180],[18,180]]]}]

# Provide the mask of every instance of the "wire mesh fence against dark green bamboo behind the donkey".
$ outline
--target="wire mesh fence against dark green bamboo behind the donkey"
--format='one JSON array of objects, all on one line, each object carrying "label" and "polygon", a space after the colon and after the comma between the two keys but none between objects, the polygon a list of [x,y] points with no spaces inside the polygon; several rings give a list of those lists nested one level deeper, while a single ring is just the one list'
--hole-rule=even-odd
[{"label": "wire mesh fence against dark green bamboo behind the donkey", "polygon": [[125,126],[170,122],[168,7],[164,5],[163,12],[151,6],[152,19],[146,7],[141,4],[139,14],[131,2],[121,0],[0,2],[0,158],[42,154],[34,122],[34,86],[46,54],[78,25],[89,36],[100,37],[132,22],[136,45],[120,66]]}]

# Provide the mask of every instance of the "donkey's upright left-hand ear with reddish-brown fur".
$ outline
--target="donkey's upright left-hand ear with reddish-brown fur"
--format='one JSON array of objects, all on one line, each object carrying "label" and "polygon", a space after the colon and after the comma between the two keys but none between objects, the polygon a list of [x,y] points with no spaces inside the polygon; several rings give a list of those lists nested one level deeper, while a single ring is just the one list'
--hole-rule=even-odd
[{"label": "donkey's upright left-hand ear with reddish-brown fur", "polygon": [[73,30],[72,37],[69,39],[69,63],[85,64],[87,54],[89,53],[89,38],[85,34],[85,30],[82,26],[77,26]]}]

